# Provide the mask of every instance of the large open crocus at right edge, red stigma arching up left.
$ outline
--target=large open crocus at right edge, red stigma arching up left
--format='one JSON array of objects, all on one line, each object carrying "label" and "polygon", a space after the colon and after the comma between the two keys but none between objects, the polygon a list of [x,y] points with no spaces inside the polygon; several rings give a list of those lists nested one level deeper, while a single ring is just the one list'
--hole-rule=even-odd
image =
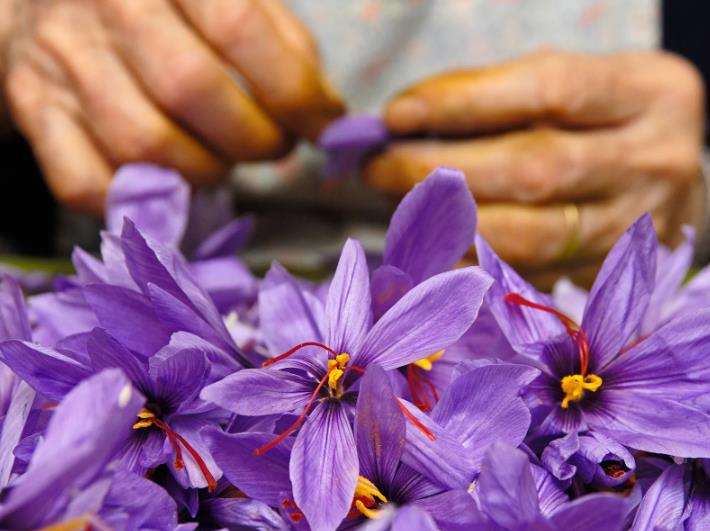
[{"label": "large open crocus at right edge, red stigma arching up left", "polygon": [[497,281],[490,308],[519,361],[542,370],[527,394],[532,440],[594,430],[631,448],[710,456],[710,311],[676,315],[629,343],[653,293],[656,243],[644,215],[607,256],[577,325],[478,238],[481,264]]}]

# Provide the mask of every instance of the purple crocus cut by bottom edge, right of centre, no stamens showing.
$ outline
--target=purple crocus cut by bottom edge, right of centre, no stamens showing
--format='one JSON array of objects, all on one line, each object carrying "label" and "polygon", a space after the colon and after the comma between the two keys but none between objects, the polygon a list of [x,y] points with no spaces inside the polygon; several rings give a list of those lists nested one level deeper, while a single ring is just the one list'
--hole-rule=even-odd
[{"label": "purple crocus cut by bottom edge, right of centre, no stamens showing", "polygon": [[[633,507],[615,494],[591,494],[569,502],[540,481],[542,469],[511,446],[494,444],[481,465],[476,495],[489,521],[481,529],[507,531],[621,530]],[[541,488],[541,487],[544,487]]]}]

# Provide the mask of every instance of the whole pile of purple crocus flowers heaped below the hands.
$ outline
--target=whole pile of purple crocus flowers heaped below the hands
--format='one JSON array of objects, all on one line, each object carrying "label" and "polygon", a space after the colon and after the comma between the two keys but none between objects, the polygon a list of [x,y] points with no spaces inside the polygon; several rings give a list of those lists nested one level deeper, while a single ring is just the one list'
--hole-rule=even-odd
[{"label": "whole pile of purple crocus flowers heaped below the hands", "polygon": [[[179,176],[125,167],[100,259],[77,249],[27,300],[0,283],[0,528],[710,527],[690,231],[670,251],[644,215],[591,291],[550,296],[442,168],[381,259],[348,240],[311,283],[255,278],[250,220],[200,201],[188,224]],[[472,246],[480,266],[457,267]]]}]

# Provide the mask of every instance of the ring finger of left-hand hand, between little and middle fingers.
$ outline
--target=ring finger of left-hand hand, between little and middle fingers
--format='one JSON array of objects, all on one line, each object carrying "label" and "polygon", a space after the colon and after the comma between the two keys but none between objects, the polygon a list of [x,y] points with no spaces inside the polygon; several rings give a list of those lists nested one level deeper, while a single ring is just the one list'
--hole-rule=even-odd
[{"label": "ring finger of left-hand hand, between little and middle fingers", "polygon": [[94,15],[77,10],[71,20],[81,32],[69,24],[46,24],[37,38],[67,72],[102,151],[116,165],[153,162],[196,184],[221,178],[225,164],[145,96],[108,47]]}]

